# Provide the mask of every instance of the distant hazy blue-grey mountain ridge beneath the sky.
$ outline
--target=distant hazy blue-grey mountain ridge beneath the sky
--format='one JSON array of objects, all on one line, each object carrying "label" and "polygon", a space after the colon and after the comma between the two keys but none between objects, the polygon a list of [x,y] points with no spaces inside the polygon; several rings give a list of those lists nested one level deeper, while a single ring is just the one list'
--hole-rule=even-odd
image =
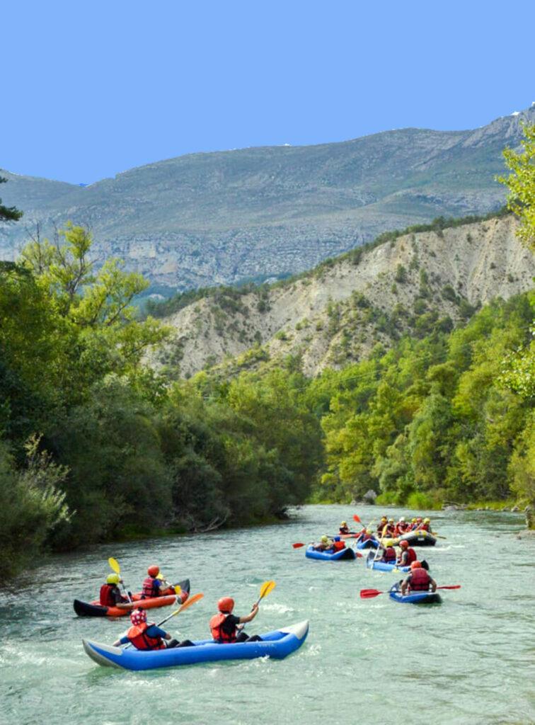
[{"label": "distant hazy blue-grey mountain ridge beneath the sky", "polygon": [[80,188],[0,172],[0,258],[28,231],[87,225],[99,256],[123,257],[154,283],[184,289],[310,269],[386,229],[502,205],[502,149],[518,146],[535,105],[476,130],[406,128],[339,144],[188,156]]}]

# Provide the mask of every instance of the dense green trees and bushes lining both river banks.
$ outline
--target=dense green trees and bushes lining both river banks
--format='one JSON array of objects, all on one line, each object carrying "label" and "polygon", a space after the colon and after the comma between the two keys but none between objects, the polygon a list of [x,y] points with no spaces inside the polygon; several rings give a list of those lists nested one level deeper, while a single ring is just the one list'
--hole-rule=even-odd
[{"label": "dense green trees and bushes lining both river banks", "polygon": [[[527,129],[524,153],[507,152],[528,245],[534,148]],[[0,219],[19,216],[0,205]],[[534,293],[314,379],[290,356],[276,370],[170,382],[146,365],[169,334],[132,305],[146,281],[118,260],[97,269],[91,244],[67,225],[0,264],[7,576],[46,547],[261,523],[370,488],[415,507],[535,502]]]}]

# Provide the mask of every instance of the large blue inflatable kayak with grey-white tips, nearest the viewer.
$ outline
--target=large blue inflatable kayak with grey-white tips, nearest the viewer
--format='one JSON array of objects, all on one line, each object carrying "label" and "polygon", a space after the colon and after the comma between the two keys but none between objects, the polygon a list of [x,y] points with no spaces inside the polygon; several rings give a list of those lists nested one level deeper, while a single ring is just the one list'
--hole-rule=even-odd
[{"label": "large blue inflatable kayak with grey-white tips, nearest the viewer", "polygon": [[172,650],[123,650],[111,645],[99,645],[83,639],[83,649],[97,664],[125,670],[153,670],[158,667],[195,665],[199,662],[220,660],[253,660],[270,657],[276,660],[291,655],[307,639],[308,621],[289,627],[281,627],[262,634],[261,642],[239,642],[233,645],[219,645],[213,639],[194,642],[194,647],[175,647]]}]

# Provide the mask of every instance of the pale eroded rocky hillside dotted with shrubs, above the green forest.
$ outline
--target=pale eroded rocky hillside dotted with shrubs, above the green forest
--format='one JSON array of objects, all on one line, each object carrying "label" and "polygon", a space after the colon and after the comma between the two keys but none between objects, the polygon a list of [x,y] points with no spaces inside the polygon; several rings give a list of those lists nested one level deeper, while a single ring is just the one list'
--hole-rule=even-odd
[{"label": "pale eroded rocky hillside dotted with shrubs, above the green forest", "polygon": [[173,342],[157,360],[181,376],[222,365],[299,365],[313,375],[467,319],[494,297],[531,289],[535,258],[512,215],[408,233],[323,263],[302,278],[214,291],[166,318]]}]

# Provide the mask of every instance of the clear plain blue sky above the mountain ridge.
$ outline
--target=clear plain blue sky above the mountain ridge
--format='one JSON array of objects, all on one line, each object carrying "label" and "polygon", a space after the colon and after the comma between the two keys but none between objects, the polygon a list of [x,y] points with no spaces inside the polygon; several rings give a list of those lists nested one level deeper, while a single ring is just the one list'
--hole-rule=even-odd
[{"label": "clear plain blue sky above the mountain ridge", "polygon": [[11,0],[0,167],[92,182],[189,152],[475,128],[535,100],[535,3]]}]

